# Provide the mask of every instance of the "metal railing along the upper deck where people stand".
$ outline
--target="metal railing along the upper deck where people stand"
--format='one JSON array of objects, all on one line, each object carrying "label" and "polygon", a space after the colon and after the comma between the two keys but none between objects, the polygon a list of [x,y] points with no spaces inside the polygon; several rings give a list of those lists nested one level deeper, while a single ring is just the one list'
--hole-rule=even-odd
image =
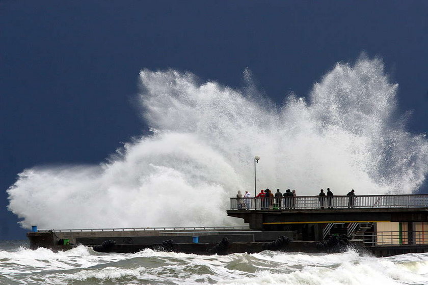
[{"label": "metal railing along the upper deck where people stand", "polygon": [[428,194],[230,198],[230,210],[426,207],[428,207]]}]

